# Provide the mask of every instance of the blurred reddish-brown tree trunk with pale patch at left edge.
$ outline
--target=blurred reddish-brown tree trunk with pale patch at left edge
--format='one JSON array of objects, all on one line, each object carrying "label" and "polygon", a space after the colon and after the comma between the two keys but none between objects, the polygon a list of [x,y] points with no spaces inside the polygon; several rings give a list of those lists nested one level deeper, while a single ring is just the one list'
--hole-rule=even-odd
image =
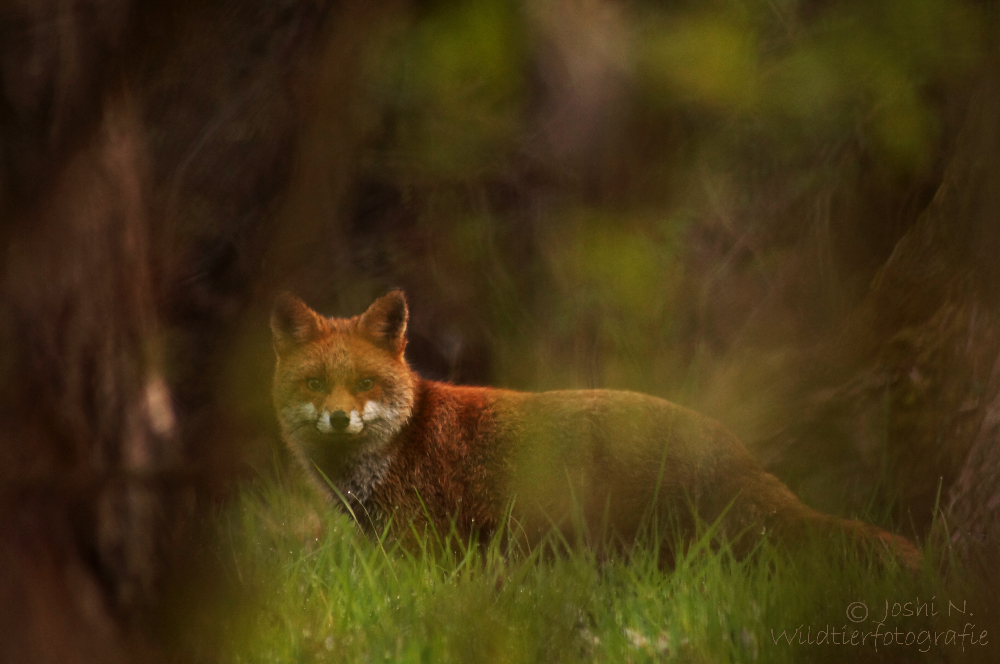
[{"label": "blurred reddish-brown tree trunk with pale patch at left edge", "polygon": [[[108,100],[89,144],[15,221],[7,247],[4,513],[13,583],[5,634],[76,637],[120,657],[110,616],[152,597],[175,515],[175,412],[164,376],[144,147],[134,107]],[[11,573],[13,571],[13,573]],[[4,639],[5,647],[29,647]],[[60,652],[65,648],[65,652]],[[58,654],[57,654],[58,653]],[[90,661],[89,656],[81,658]]]}]

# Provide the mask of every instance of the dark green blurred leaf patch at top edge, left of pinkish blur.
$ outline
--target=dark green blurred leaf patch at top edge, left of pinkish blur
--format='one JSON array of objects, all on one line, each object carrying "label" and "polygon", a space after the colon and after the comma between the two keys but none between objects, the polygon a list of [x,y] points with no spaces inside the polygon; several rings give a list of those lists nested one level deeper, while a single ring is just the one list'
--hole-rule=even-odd
[{"label": "dark green blurred leaf patch at top edge, left of pinkish blur", "polygon": [[525,100],[523,25],[505,0],[439,3],[403,29],[373,81],[394,149],[428,179],[463,179],[502,159]]}]

